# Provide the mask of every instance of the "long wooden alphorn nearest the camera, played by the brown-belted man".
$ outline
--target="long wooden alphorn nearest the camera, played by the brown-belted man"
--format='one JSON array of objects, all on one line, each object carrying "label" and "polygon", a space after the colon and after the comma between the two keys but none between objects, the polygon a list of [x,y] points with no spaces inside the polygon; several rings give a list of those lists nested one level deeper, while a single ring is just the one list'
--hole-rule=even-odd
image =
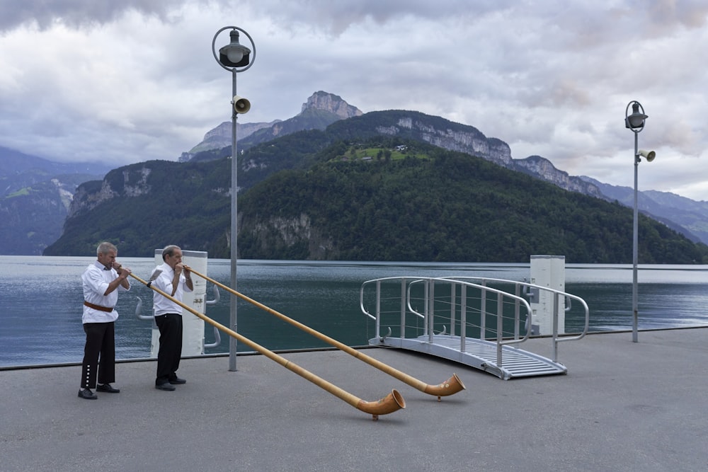
[{"label": "long wooden alphorn nearest the camera, played by the brown-belted man", "polygon": [[400,410],[401,408],[406,408],[406,401],[404,400],[401,393],[399,393],[399,391],[397,391],[395,388],[391,391],[391,393],[389,393],[387,396],[385,396],[379,401],[364,401],[361,398],[358,398],[357,396],[349,393],[348,391],[343,390],[342,388],[339,388],[334,384],[331,384],[330,382],[322,379],[319,376],[316,376],[312,372],[309,372],[307,369],[299,367],[299,365],[295,364],[295,362],[290,362],[289,360],[285,359],[285,357],[277,355],[275,354],[275,352],[270,351],[265,347],[259,345],[258,343],[254,343],[253,341],[249,340],[249,338],[245,338],[243,335],[236,333],[236,331],[227,328],[221,323],[217,323],[217,321],[214,321],[212,320],[212,318],[209,318],[203,313],[196,311],[191,306],[183,304],[178,299],[171,297],[169,294],[166,294],[162,290],[154,287],[152,284],[148,284],[148,282],[145,282],[137,275],[130,275],[134,277],[138,282],[141,282],[147,287],[153,289],[155,292],[161,294],[163,297],[166,297],[167,299],[175,302],[183,309],[190,311],[190,313],[192,313],[193,315],[202,318],[202,320],[206,321],[210,325],[216,326],[220,330],[224,331],[224,333],[227,333],[228,335],[236,338],[236,340],[239,340],[240,343],[244,343],[245,345],[251,347],[251,349],[260,352],[265,357],[268,357],[269,359],[278,362],[278,364],[282,365],[282,367],[285,367],[286,369],[295,372],[295,374],[303,377],[304,379],[311,381],[316,386],[319,386],[320,388],[323,388],[324,390],[340,398],[341,400],[346,401],[346,403],[349,403],[354,408],[357,408],[358,410],[361,410],[364,413],[369,413],[370,415],[372,415],[372,420],[378,420],[379,415],[387,415],[389,413],[393,413],[394,411]]}]

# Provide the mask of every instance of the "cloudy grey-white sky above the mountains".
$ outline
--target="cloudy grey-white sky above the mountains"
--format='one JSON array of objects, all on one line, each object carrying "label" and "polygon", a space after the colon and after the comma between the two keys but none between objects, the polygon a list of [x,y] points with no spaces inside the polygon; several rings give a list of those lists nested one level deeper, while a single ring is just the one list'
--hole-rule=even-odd
[{"label": "cloudy grey-white sky above the mountains", "polygon": [[0,0],[0,146],[176,160],[231,120],[231,74],[212,55],[230,25],[256,43],[239,122],[292,117],[321,90],[632,187],[624,116],[638,100],[639,148],[657,155],[639,189],[708,200],[704,0]]}]

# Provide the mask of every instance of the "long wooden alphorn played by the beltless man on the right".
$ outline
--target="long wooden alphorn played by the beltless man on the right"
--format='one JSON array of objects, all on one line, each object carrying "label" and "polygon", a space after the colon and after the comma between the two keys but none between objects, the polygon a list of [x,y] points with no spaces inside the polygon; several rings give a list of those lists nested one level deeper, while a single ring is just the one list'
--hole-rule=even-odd
[{"label": "long wooden alphorn played by the beltless man on the right", "polygon": [[464,390],[464,384],[462,384],[462,381],[459,379],[457,374],[452,374],[452,377],[450,379],[447,379],[446,381],[442,382],[442,384],[438,385],[429,385],[426,384],[423,381],[420,381],[416,379],[415,377],[410,376],[409,374],[406,374],[404,372],[401,372],[399,370],[394,369],[393,367],[390,367],[387,364],[384,364],[383,362],[374,359],[373,357],[367,356],[363,354],[362,352],[353,349],[352,347],[349,347],[348,345],[344,343],[340,343],[338,340],[330,338],[327,335],[324,335],[320,333],[317,330],[314,330],[310,328],[307,325],[304,325],[300,323],[299,321],[295,321],[292,318],[289,318],[288,316],[285,316],[284,314],[275,311],[274,309],[265,306],[261,303],[259,303],[256,300],[253,300],[249,297],[246,297],[246,295],[241,294],[240,292],[236,292],[236,290],[232,289],[231,287],[227,287],[226,285],[217,282],[216,280],[212,279],[211,277],[207,277],[206,275],[200,274],[196,270],[194,270],[191,267],[186,267],[190,272],[193,274],[198,275],[199,277],[202,277],[204,280],[208,280],[209,282],[212,282],[212,284],[217,285],[218,287],[222,287],[222,289],[227,290],[227,292],[231,292],[232,294],[236,295],[236,297],[240,297],[241,299],[244,299],[245,301],[248,301],[249,303],[258,306],[258,308],[267,311],[268,313],[278,316],[283,321],[286,321],[287,323],[292,324],[293,326],[297,326],[297,328],[300,328],[301,330],[305,331],[306,333],[309,333],[313,335],[314,337],[323,340],[325,343],[329,343],[330,345],[333,345],[335,347],[338,347],[338,349],[343,350],[349,355],[352,355],[356,357],[357,359],[360,359],[363,362],[366,362],[367,364],[376,367],[382,372],[385,372],[389,374],[390,376],[393,376],[396,379],[399,379],[400,381],[404,382],[404,384],[408,384],[413,388],[417,388],[418,390],[428,393],[430,395],[434,395],[438,397],[438,401],[440,401],[440,397],[442,396],[450,396],[454,393],[457,393],[461,390]]}]

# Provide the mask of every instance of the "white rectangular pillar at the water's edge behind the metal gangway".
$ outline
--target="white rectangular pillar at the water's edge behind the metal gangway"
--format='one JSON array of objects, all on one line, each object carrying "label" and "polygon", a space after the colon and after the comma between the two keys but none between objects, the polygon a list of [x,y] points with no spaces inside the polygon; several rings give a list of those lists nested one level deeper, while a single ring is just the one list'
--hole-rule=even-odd
[{"label": "white rectangular pillar at the water's edge behind the metal gangway", "polygon": [[[531,283],[540,287],[566,291],[566,257],[564,255],[532,255]],[[534,335],[553,334],[553,301],[556,294],[539,290],[531,298],[531,333]],[[558,297],[558,334],[566,332],[565,297]]]}]

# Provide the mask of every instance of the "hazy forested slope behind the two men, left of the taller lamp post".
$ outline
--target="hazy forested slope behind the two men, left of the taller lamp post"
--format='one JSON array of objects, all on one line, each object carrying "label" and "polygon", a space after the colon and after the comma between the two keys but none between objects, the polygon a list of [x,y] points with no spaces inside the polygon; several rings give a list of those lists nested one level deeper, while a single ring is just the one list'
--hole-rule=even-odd
[{"label": "hazy forested slope behind the two men, left of the taller lamp post", "polygon": [[90,255],[108,240],[124,257],[152,257],[155,248],[169,243],[224,257],[229,253],[230,169],[230,159],[147,161],[83,183],[64,233],[44,253]]}]

